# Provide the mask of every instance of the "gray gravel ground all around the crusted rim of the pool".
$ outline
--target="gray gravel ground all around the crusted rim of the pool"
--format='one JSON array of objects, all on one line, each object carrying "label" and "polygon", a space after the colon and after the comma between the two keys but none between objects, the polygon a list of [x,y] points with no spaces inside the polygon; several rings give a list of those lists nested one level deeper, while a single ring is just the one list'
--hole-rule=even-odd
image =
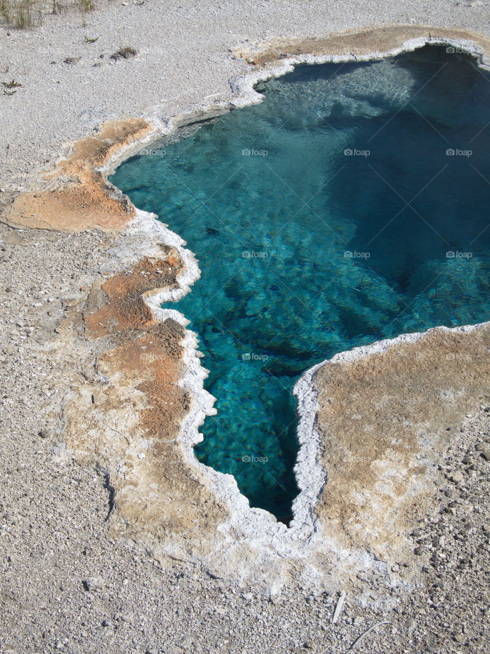
[{"label": "gray gravel ground all around the crusted rim of the pool", "polygon": [[[74,13],[49,16],[32,32],[2,27],[0,78],[23,86],[0,95],[0,203],[48,167],[63,141],[103,120],[160,103],[164,117],[206,95],[229,96],[228,78],[243,70],[229,48],[247,39],[382,22],[488,33],[489,5],[114,0],[88,14],[86,27]],[[99,40],[84,43],[84,35]],[[110,61],[125,45],[139,54]],[[67,57],[82,59],[63,63]],[[0,226],[0,239],[0,652],[343,653],[380,621],[391,624],[376,627],[354,651],[490,651],[489,398],[455,434],[447,483],[414,526],[418,587],[386,613],[383,600],[394,591],[366,577],[372,606],[348,594],[331,625],[338,595],[329,589],[314,596],[289,587],[272,602],[263,589],[212,579],[198,567],[163,570],[144,551],[108,538],[103,475],[67,463],[58,456],[63,444],[42,432],[46,403],[80,378],[80,362],[56,348],[54,330],[80,286],[99,274],[107,237]]]}]

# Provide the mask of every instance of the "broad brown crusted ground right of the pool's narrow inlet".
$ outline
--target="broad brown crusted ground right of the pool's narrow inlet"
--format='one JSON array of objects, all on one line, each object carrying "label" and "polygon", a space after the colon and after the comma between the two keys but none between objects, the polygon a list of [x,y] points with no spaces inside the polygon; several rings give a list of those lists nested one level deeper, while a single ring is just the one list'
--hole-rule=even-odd
[{"label": "broad brown crusted ground right of the pool's narrow inlet", "polygon": [[490,400],[489,350],[488,323],[434,328],[318,369],[316,428],[328,481],[314,511],[338,546],[391,562],[406,556],[409,525],[448,483],[442,455],[466,414]]}]

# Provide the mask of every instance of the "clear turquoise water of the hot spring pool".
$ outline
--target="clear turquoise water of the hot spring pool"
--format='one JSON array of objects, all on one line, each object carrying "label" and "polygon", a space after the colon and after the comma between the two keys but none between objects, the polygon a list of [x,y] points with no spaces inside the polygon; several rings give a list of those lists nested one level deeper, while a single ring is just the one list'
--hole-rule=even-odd
[{"label": "clear turquoise water of the hot spring pool", "polygon": [[435,46],[299,66],[261,84],[260,105],[186,128],[112,177],[199,260],[201,279],[171,305],[218,398],[195,452],[252,506],[291,515],[304,370],[490,317],[489,80]]}]

